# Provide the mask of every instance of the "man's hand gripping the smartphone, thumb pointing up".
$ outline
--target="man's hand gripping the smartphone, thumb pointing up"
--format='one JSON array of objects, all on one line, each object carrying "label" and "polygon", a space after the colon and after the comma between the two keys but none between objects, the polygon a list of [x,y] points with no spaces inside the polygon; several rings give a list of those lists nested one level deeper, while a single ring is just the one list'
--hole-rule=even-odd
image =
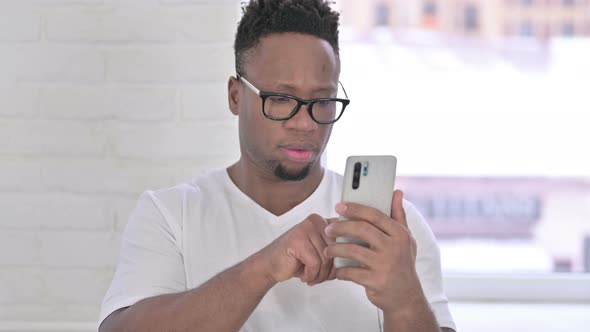
[{"label": "man's hand gripping the smartphone, thumb pointing up", "polygon": [[361,267],[336,270],[336,278],[353,281],[363,287],[369,300],[384,312],[407,308],[408,303],[423,297],[416,273],[416,241],[410,233],[402,206],[403,193],[396,190],[392,213],[355,203],[340,203],[336,211],[353,222],[336,222],[326,227],[330,237],[346,236],[369,244],[332,243],[326,256],[354,259]]}]

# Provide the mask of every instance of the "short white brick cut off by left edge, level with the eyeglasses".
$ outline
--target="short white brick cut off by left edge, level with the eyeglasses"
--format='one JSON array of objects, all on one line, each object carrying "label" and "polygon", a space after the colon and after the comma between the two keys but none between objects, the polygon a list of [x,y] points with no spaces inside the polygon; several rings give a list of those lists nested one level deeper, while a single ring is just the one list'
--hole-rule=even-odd
[{"label": "short white brick cut off by left edge, level with the eyeglasses", "polygon": [[39,113],[37,88],[0,85],[0,116],[32,118]]}]

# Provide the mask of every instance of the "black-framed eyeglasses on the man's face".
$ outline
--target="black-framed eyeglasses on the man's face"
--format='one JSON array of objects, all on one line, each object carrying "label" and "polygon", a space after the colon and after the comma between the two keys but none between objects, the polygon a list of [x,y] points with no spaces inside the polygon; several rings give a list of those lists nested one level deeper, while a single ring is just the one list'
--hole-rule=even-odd
[{"label": "black-framed eyeglasses on the man's face", "polygon": [[262,99],[262,113],[266,118],[274,121],[289,120],[299,112],[301,106],[306,105],[307,112],[313,121],[325,125],[332,124],[340,119],[344,109],[350,103],[346,90],[340,82],[338,84],[342,87],[346,99],[316,98],[305,100],[286,93],[260,91],[243,76],[237,75],[237,78]]}]

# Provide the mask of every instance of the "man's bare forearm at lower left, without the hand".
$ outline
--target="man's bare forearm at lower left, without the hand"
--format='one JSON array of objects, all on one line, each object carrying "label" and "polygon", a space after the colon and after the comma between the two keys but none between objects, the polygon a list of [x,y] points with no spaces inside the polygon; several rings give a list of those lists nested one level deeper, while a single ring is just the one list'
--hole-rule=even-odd
[{"label": "man's bare forearm at lower left, without the hand", "polygon": [[252,256],[193,290],[144,299],[106,318],[100,332],[237,331],[275,284]]}]

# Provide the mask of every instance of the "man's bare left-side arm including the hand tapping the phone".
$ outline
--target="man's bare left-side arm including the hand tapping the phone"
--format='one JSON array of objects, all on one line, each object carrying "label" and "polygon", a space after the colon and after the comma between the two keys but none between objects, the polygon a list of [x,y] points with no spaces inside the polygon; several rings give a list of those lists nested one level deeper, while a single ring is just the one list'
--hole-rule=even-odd
[{"label": "man's bare left-side arm including the hand tapping the phone", "polygon": [[[276,283],[298,277],[317,284],[333,275],[323,250],[334,239],[311,215],[281,237],[193,290],[144,299],[107,317],[99,332],[235,332]],[[146,276],[149,277],[149,276]]]}]

